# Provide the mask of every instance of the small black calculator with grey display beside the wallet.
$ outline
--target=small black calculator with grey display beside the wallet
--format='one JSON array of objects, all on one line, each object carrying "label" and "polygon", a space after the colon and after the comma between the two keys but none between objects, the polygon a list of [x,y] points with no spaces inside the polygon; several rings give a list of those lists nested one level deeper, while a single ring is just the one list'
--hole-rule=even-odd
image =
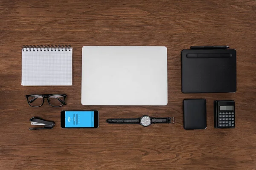
[{"label": "small black calculator with grey display beside the wallet", "polygon": [[214,127],[235,128],[235,101],[214,101]]}]

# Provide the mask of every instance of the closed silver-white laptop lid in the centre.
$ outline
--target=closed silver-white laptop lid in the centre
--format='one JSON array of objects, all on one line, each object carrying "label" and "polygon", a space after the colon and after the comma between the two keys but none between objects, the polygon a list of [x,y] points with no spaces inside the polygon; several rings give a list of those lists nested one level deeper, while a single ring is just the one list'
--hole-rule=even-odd
[{"label": "closed silver-white laptop lid in the centre", "polygon": [[167,48],[84,46],[82,105],[167,105]]}]

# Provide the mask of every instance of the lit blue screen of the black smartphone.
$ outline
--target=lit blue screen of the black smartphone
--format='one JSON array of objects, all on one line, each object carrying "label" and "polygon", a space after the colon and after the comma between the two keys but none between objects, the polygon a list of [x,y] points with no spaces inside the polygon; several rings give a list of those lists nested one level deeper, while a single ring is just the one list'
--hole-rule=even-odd
[{"label": "lit blue screen of the black smartphone", "polygon": [[94,127],[94,112],[66,111],[65,127]]}]

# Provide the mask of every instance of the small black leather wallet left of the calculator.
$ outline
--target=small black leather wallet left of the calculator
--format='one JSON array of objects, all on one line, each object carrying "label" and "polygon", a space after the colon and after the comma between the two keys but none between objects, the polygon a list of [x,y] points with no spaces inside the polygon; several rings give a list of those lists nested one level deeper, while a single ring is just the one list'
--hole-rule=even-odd
[{"label": "small black leather wallet left of the calculator", "polygon": [[206,100],[184,99],[184,129],[206,129]]}]

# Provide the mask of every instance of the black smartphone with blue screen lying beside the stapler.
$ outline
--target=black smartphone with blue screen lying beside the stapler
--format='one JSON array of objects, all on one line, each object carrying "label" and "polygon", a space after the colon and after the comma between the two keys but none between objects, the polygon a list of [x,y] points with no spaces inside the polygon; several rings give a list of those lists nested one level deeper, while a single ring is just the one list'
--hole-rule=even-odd
[{"label": "black smartphone with blue screen lying beside the stapler", "polygon": [[61,128],[98,128],[99,111],[61,111]]}]

